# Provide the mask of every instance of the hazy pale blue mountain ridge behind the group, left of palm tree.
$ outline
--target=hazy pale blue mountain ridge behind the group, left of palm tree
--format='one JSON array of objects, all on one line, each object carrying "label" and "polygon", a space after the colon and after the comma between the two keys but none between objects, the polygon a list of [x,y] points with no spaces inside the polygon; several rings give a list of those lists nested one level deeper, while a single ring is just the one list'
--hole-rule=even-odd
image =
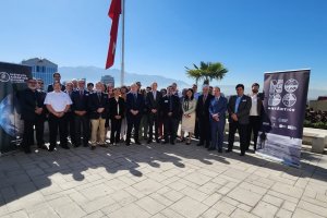
[{"label": "hazy pale blue mountain ridge behind the group, left of palm tree", "polygon": [[[61,73],[62,81],[69,81],[72,78],[86,78],[87,82],[97,82],[100,81],[102,75],[111,75],[114,77],[114,84],[120,85],[120,70],[112,69],[112,70],[104,70],[96,66],[62,66],[59,68],[59,72]],[[134,82],[140,81],[142,85],[148,86],[153,82],[157,82],[159,87],[167,87],[175,82],[179,88],[190,87],[191,85],[180,81],[168,78],[161,75],[146,75],[146,74],[136,74],[136,73],[129,73],[125,72],[125,84],[131,85]]]}]

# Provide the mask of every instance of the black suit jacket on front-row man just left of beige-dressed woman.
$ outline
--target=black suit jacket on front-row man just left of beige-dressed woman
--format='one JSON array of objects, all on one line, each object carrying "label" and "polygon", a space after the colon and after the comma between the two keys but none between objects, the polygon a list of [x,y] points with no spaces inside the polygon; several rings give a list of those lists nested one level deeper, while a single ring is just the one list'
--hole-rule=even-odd
[{"label": "black suit jacket on front-row man just left of beige-dressed woman", "polygon": [[[170,105],[172,106],[170,109]],[[171,97],[166,95],[161,98],[160,109],[164,119],[169,118],[168,113],[172,112],[171,118],[179,119],[181,111],[181,101],[180,98],[175,95]]]}]

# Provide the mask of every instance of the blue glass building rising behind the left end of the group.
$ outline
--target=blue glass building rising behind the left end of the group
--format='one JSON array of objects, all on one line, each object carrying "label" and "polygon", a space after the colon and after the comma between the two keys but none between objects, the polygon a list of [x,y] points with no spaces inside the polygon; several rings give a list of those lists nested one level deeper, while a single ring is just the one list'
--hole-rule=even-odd
[{"label": "blue glass building rising behind the left end of the group", "polygon": [[45,87],[53,82],[52,74],[58,72],[58,65],[47,59],[33,58],[23,60],[22,64],[32,66],[33,77],[41,78]]}]

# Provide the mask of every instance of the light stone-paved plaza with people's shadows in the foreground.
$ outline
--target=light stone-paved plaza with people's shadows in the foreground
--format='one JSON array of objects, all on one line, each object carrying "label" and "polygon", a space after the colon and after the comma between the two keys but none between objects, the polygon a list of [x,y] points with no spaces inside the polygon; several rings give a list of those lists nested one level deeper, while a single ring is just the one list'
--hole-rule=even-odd
[{"label": "light stone-paved plaza with people's shadows in the foreground", "polygon": [[302,168],[192,145],[0,157],[0,217],[327,217],[327,155]]}]

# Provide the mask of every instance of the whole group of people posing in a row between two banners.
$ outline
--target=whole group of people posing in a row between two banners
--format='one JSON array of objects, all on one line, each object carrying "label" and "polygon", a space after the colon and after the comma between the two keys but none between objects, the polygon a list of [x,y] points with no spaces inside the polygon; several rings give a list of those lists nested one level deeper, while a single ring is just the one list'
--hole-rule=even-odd
[{"label": "whole group of people posing in a row between two banners", "polygon": [[[22,147],[31,153],[34,144],[34,126],[38,148],[53,152],[59,133],[60,146],[69,149],[69,140],[74,147],[96,149],[109,144],[124,142],[130,146],[141,140],[174,144],[192,143],[208,150],[222,152],[227,113],[229,120],[228,149],[232,152],[237,130],[240,135],[241,156],[249,149],[253,134],[254,150],[261,126],[262,96],[259,85],[252,85],[252,94],[244,95],[244,85],[235,86],[237,95],[229,100],[219,87],[203,85],[178,90],[177,84],[158,90],[158,84],[142,89],[140,82],[131,86],[112,87],[98,82],[85,84],[73,80],[62,85],[60,73],[53,74],[53,83],[44,90],[41,80],[31,78],[19,99],[24,121]],[[49,148],[45,145],[45,122],[49,123]],[[181,131],[179,132],[179,126]],[[178,134],[179,132],[179,134]]]}]

